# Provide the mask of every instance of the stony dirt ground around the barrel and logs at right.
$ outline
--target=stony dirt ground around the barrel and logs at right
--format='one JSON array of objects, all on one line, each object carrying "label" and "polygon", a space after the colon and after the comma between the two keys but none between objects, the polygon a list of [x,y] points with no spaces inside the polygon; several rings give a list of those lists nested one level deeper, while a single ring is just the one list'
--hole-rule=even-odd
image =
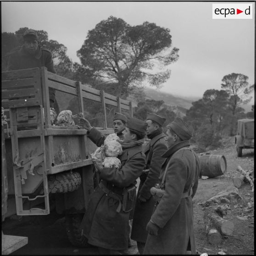
[{"label": "stony dirt ground around the barrel and logs at right", "polygon": [[[206,206],[201,203],[210,199],[233,185],[232,178],[239,176],[236,171],[237,166],[241,166],[245,171],[254,170],[254,150],[244,149],[242,157],[237,157],[234,147],[234,137],[223,139],[223,146],[217,150],[207,151],[214,155],[225,156],[227,161],[227,171],[221,176],[208,179],[199,179],[197,193],[194,197],[194,228],[197,253],[218,254],[224,253],[236,255],[254,255],[254,192],[251,192],[250,184],[243,184],[239,188],[239,195],[243,198],[238,204],[230,204],[231,210],[225,216],[226,219],[234,222],[234,232],[225,236],[218,246],[208,243],[203,220]],[[253,172],[254,177],[254,172]],[[251,205],[251,211],[245,212]],[[238,217],[245,217],[240,220]]]}]

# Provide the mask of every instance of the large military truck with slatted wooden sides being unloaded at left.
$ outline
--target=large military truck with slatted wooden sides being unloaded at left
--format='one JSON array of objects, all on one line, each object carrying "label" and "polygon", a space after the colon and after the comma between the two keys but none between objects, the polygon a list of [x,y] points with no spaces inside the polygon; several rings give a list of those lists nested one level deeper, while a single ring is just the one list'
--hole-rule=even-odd
[{"label": "large military truck with slatted wooden sides being unloaded at left", "polygon": [[[84,247],[86,239],[81,236],[79,225],[94,190],[90,154],[96,145],[88,139],[85,129],[51,124],[49,88],[55,89],[56,95],[74,97],[76,109],[84,117],[88,113],[86,104],[98,107],[102,113],[102,134],[113,133],[111,112],[132,117],[132,105],[103,90],[48,72],[45,67],[2,72],[2,107],[6,116],[2,156],[6,175],[2,174],[2,178],[7,206],[2,217],[57,212],[65,215],[72,245]],[[63,106],[67,107],[67,102]],[[61,110],[65,108],[60,107]]]}]

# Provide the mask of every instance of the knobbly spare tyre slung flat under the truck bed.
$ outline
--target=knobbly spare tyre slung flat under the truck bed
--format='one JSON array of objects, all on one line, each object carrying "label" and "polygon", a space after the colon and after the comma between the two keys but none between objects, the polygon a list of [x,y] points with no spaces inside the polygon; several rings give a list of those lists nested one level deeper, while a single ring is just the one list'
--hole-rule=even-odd
[{"label": "knobbly spare tyre slung flat under the truck bed", "polygon": [[81,176],[77,172],[58,173],[48,175],[49,193],[67,193],[79,188]]}]

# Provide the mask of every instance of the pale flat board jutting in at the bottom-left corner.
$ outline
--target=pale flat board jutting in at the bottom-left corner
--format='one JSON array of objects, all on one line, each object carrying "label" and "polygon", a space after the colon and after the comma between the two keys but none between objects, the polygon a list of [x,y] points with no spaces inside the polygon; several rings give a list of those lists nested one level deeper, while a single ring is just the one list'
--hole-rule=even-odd
[{"label": "pale flat board jutting in at the bottom-left corner", "polygon": [[2,234],[2,255],[8,255],[28,244],[28,237]]}]

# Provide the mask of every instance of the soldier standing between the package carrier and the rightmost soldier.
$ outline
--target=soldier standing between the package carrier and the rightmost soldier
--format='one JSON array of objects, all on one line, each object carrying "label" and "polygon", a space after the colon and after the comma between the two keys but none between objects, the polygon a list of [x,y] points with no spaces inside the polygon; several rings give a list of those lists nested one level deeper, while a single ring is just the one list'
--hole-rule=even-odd
[{"label": "soldier standing between the package carrier and the rightmost soldier", "polygon": [[131,234],[131,239],[137,241],[139,254],[143,253],[148,235],[146,225],[150,220],[155,205],[150,188],[158,182],[161,165],[164,161],[161,156],[167,150],[165,134],[163,134],[162,129],[165,120],[164,117],[155,113],[149,114],[146,120],[148,124],[146,134],[150,141],[144,149],[146,164],[143,173],[139,177],[140,183]]}]

